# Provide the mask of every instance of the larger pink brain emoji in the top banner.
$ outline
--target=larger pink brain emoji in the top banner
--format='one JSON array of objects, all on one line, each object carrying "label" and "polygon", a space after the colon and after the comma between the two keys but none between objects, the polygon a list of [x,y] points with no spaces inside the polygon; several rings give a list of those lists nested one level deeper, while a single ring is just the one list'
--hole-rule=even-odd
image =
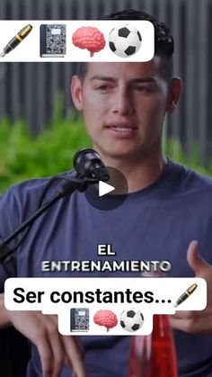
[{"label": "larger pink brain emoji in the top banner", "polygon": [[72,41],[79,49],[88,49],[93,57],[94,52],[99,52],[105,46],[102,31],[92,26],[83,26],[72,35]]}]

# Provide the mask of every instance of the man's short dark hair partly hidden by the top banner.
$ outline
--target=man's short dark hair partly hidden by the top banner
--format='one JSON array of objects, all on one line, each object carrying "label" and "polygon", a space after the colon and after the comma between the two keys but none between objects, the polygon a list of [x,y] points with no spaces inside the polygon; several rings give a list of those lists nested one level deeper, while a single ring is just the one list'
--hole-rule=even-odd
[{"label": "man's short dark hair partly hidden by the top banner", "polygon": [[[163,22],[159,22],[154,15],[134,9],[126,9],[116,13],[110,13],[100,17],[101,20],[146,20],[153,23],[155,27],[155,55],[161,57],[160,73],[163,78],[172,78],[172,54],[173,38],[172,34]],[[87,63],[78,64],[78,76],[84,79],[87,72]]]}]

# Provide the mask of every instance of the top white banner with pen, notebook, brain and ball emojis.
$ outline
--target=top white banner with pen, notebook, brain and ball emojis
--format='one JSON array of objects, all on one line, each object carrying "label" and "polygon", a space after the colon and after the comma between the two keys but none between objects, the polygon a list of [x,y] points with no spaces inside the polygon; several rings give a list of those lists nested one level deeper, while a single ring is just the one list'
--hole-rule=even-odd
[{"label": "top white banner with pen, notebook, brain and ball emojis", "polygon": [[6,20],[0,35],[0,62],[144,62],[155,53],[145,20]]}]

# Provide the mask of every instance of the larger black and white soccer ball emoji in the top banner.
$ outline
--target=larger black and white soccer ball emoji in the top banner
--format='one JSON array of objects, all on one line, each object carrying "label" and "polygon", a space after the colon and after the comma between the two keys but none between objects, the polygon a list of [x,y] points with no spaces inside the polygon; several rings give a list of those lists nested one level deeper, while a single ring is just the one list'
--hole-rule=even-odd
[{"label": "larger black and white soccer ball emoji in the top banner", "polygon": [[109,46],[114,54],[128,58],[135,54],[141,46],[141,34],[132,25],[119,25],[110,31]]}]

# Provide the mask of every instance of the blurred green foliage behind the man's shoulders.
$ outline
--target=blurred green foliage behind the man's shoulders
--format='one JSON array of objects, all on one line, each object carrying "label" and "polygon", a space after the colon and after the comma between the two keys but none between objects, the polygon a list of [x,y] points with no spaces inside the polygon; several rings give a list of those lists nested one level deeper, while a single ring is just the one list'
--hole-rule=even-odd
[{"label": "blurred green foliage behind the man's shoulders", "polygon": [[[37,138],[32,138],[28,130],[25,121],[16,121],[13,125],[8,119],[0,122],[0,193],[23,180],[57,175],[71,169],[75,151],[92,146],[82,119],[65,120],[59,112],[54,123]],[[199,166],[197,146],[189,161],[176,139],[165,140],[164,150],[175,161],[212,175],[212,163],[208,168]]]}]

